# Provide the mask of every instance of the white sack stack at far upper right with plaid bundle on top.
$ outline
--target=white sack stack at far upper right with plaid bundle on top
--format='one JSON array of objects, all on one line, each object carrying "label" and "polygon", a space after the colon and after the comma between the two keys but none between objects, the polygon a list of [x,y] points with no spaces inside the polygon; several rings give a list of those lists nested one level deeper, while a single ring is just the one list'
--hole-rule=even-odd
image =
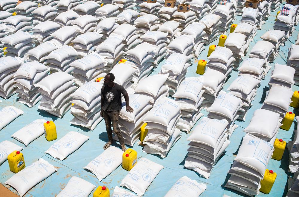
[{"label": "white sack stack at far upper right with plaid bundle on top", "polygon": [[276,17],[273,29],[284,31],[286,36],[292,35],[299,21],[299,5],[285,4]]}]

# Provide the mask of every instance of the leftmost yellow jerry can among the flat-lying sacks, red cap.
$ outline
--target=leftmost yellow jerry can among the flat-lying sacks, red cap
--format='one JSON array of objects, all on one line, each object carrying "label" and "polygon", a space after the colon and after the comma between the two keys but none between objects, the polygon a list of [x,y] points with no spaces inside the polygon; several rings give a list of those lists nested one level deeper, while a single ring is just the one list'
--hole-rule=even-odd
[{"label": "leftmost yellow jerry can among the flat-lying sacks, red cap", "polygon": [[24,156],[20,151],[13,151],[7,156],[10,171],[18,173],[25,168]]}]

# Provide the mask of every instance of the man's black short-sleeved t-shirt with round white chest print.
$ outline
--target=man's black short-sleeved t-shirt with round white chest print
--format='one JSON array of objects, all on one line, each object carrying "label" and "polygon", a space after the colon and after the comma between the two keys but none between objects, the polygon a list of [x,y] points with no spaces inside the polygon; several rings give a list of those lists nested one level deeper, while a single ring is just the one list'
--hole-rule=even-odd
[{"label": "man's black short-sleeved t-shirt with round white chest print", "polygon": [[115,83],[115,86],[112,88],[108,85],[104,85],[101,92],[101,97],[104,98],[102,109],[104,111],[121,110],[121,94],[123,94],[123,96],[127,94],[123,86],[117,83]]}]

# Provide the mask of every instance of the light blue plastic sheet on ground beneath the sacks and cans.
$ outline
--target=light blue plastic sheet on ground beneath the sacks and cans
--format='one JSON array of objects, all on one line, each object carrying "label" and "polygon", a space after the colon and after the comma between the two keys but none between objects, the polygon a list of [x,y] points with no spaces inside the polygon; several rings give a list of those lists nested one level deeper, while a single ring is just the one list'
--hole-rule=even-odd
[{"label": "light blue plastic sheet on ground beneath the sacks and cans", "polygon": [[[260,36],[263,35],[263,33],[273,29],[275,16],[276,12],[271,12],[271,16],[269,16],[268,20],[266,21],[266,24],[263,25],[262,30],[258,30],[254,40],[250,43],[247,54],[249,54],[254,44],[257,41],[261,40]],[[234,23],[238,24],[239,19],[240,16],[237,16],[237,19],[234,21]],[[297,26],[295,31],[293,32],[293,35],[289,38],[288,41],[286,41],[285,46],[280,47],[280,54],[274,60],[274,63],[286,64],[288,48],[291,44],[295,43],[296,37],[298,35],[298,30],[299,27]],[[217,45],[218,40],[214,41],[212,44]],[[198,59],[206,59],[208,47],[209,46],[206,46],[206,49],[199,55]],[[244,59],[245,58],[248,58],[248,56],[245,56]],[[274,63],[271,63],[271,70],[273,70]],[[163,65],[163,61],[159,64],[159,66],[155,69],[155,71],[152,74],[156,74],[157,72],[159,72],[159,70],[161,69],[161,65]],[[239,125],[239,127],[232,134],[230,138],[230,145],[226,148],[225,154],[223,154],[219,161],[216,163],[209,179],[200,177],[198,173],[184,168],[184,161],[188,149],[188,141],[186,139],[188,136],[190,136],[190,134],[185,134],[182,132],[181,139],[179,139],[178,142],[176,142],[176,144],[168,153],[167,157],[164,159],[162,159],[158,155],[151,155],[142,152],[142,146],[138,145],[138,143],[136,142],[133,146],[133,149],[138,152],[138,159],[140,159],[141,157],[145,157],[153,162],[159,163],[164,166],[164,169],[161,170],[161,172],[158,174],[155,180],[150,184],[144,196],[164,196],[167,193],[167,191],[172,187],[172,185],[182,176],[187,176],[190,179],[194,179],[199,183],[207,184],[207,189],[201,196],[222,196],[223,194],[226,194],[228,196],[246,196],[235,190],[225,188],[224,185],[226,184],[229,178],[227,172],[230,169],[235,156],[237,155],[237,151],[242,141],[242,137],[245,135],[243,129],[249,124],[253,112],[256,109],[261,108],[262,103],[265,99],[266,91],[269,90],[268,82],[270,80],[271,70],[268,72],[265,80],[262,80],[261,82],[261,85],[257,91],[258,94],[255,97],[254,101],[252,101],[252,107],[248,111],[246,121],[237,120],[235,122],[237,125]],[[193,65],[188,68],[186,77],[198,76],[195,73],[195,71],[196,63],[193,63]],[[231,73],[231,76],[229,77],[229,79],[225,83],[225,86],[223,87],[224,91],[227,91],[229,84],[234,79],[236,79],[237,74],[237,71],[233,71]],[[298,86],[293,86],[292,89],[293,91],[299,90]],[[64,115],[64,117],[60,119],[48,114],[45,111],[39,110],[39,103],[36,104],[33,108],[28,108],[25,105],[16,102],[16,98],[16,95],[14,95],[8,100],[1,99],[2,103],[0,103],[0,108],[3,108],[5,106],[15,106],[23,110],[24,114],[0,131],[0,141],[9,140],[11,142],[16,143],[17,145],[22,146],[24,148],[24,150],[22,150],[22,153],[24,154],[26,165],[30,165],[31,163],[36,162],[39,158],[43,158],[52,165],[54,165],[58,170],[56,173],[52,174],[50,177],[48,177],[44,181],[34,186],[32,189],[30,189],[25,196],[55,196],[65,187],[65,185],[68,183],[72,176],[78,176],[97,186],[105,185],[111,190],[112,194],[113,188],[119,186],[120,181],[126,176],[128,171],[124,170],[121,166],[119,166],[108,177],[104,178],[101,182],[99,182],[98,179],[94,176],[94,174],[83,169],[84,166],[86,166],[91,160],[93,160],[95,157],[97,157],[100,153],[104,151],[103,145],[108,141],[104,121],[101,121],[94,129],[94,131],[90,131],[86,128],[71,125],[70,120],[73,117],[70,111],[68,111]],[[299,115],[298,109],[294,110],[294,108],[290,107],[289,111],[292,111],[296,115]],[[202,111],[202,113],[205,115],[205,117],[208,114],[204,110]],[[25,147],[24,144],[10,137],[14,132],[18,131],[20,128],[36,119],[54,120],[57,127],[57,140],[62,138],[69,131],[77,131],[81,134],[90,136],[90,138],[78,150],[69,155],[65,160],[59,161],[57,159],[54,159],[50,155],[45,154],[45,151],[57,140],[48,142],[42,135],[38,139],[31,142],[27,147]],[[297,123],[294,121],[289,131],[279,129],[277,138],[281,138],[286,142],[288,142],[290,139],[293,139],[293,131],[294,128],[296,128],[296,126]],[[119,145],[116,146],[120,147]],[[281,161],[270,159],[269,164],[267,165],[268,169],[271,169],[277,173],[277,178],[272,187],[271,192],[268,195],[260,193],[260,195],[258,196],[285,196],[287,193],[288,176],[292,176],[292,173],[288,172],[288,166],[289,154],[286,148],[285,153],[283,155],[283,159]],[[0,173],[1,184],[4,184],[4,182],[14,174],[9,170],[7,161],[0,165]],[[9,187],[7,185],[5,186]],[[9,189],[12,190],[14,193],[17,193],[16,190],[14,190],[12,187],[9,187]],[[89,196],[92,196],[92,193]]]}]

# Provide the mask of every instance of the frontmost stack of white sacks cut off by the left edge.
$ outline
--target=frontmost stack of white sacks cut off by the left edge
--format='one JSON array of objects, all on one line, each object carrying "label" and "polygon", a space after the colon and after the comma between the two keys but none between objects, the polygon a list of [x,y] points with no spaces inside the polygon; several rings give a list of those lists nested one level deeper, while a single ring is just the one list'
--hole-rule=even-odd
[{"label": "frontmost stack of white sacks cut off by the left edge", "polygon": [[19,57],[1,57],[0,64],[0,97],[7,99],[16,93],[13,76],[23,63]]}]

